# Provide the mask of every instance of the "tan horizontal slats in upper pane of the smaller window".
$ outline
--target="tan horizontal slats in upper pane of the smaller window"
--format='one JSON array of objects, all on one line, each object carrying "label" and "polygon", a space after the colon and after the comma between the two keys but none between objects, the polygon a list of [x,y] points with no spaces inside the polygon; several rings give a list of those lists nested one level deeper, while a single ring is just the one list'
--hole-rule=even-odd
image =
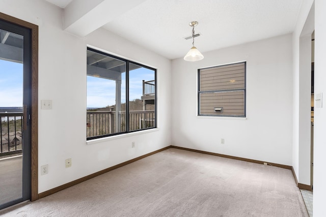
[{"label": "tan horizontal slats in upper pane of the smaller window", "polygon": [[244,89],[244,63],[202,69],[200,91]]}]

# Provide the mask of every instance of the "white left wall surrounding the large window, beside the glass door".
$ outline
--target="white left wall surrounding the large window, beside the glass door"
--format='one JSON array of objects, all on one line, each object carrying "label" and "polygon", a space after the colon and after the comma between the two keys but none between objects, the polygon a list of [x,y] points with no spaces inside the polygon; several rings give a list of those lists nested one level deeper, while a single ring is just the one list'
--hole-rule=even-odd
[{"label": "white left wall surrounding the large window, beside the glass door", "polygon": [[[39,25],[39,101],[53,101],[52,110],[39,106],[39,168],[49,168],[39,175],[39,193],[171,144],[171,60],[105,29],[84,38],[68,34],[62,9],[43,0],[2,1],[0,12]],[[87,45],[157,68],[158,130],[86,143]]]}]

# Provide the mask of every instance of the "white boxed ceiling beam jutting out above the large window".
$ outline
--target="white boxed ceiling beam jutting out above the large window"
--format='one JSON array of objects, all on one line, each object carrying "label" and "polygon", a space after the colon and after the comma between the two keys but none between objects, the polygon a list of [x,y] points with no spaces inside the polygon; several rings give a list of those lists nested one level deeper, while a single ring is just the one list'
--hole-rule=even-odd
[{"label": "white boxed ceiling beam jutting out above the large window", "polygon": [[84,37],[146,0],[74,0],[64,9],[65,31]]}]

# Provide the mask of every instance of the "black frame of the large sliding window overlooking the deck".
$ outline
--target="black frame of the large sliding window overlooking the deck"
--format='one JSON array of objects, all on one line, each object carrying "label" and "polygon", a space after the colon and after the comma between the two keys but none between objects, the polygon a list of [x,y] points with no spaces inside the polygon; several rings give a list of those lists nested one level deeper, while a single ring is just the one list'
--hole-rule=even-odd
[{"label": "black frame of the large sliding window overlooking the deck", "polygon": [[[143,64],[140,64],[140,63],[137,63],[135,61],[131,61],[129,59],[126,59],[126,58],[122,58],[122,57],[119,57],[119,56],[115,56],[113,54],[110,54],[110,53],[105,53],[103,51],[100,51],[100,50],[97,50],[97,49],[94,49],[94,48],[91,48],[91,47],[87,47],[87,50],[89,51],[92,51],[92,52],[95,52],[95,53],[99,53],[99,54],[102,54],[102,55],[105,55],[105,56],[108,56],[108,57],[111,57],[111,58],[115,58],[115,59],[118,59],[118,60],[121,60],[121,61],[124,61],[125,64],[126,64],[126,89],[125,89],[125,94],[126,94],[126,130],[124,132],[118,132],[118,133],[112,133],[112,134],[103,134],[103,135],[98,135],[98,136],[92,136],[92,137],[87,137],[86,135],[86,140],[87,141],[91,141],[91,140],[94,140],[94,139],[99,139],[99,138],[107,138],[107,137],[112,137],[112,136],[116,136],[116,135],[122,135],[122,134],[130,134],[130,133],[134,133],[134,132],[139,132],[139,131],[146,131],[146,130],[150,130],[150,129],[156,129],[157,128],[157,69],[155,68],[152,68],[152,67],[149,67],[149,66],[145,66]],[[130,126],[129,126],[129,65],[130,64],[134,64],[134,65],[137,65],[137,66],[140,66],[140,67],[143,67],[143,68],[146,68],[146,69],[149,69],[149,70],[152,70],[154,71],[154,88],[155,88],[155,95],[154,95],[154,126],[153,127],[149,127],[149,128],[143,128],[143,129],[138,129],[138,130],[130,130]],[[87,72],[86,72],[86,76],[88,76]],[[87,89],[86,89],[87,90]],[[87,100],[87,96],[86,96],[86,100]],[[86,111],[86,114],[87,114],[87,111]]]}]

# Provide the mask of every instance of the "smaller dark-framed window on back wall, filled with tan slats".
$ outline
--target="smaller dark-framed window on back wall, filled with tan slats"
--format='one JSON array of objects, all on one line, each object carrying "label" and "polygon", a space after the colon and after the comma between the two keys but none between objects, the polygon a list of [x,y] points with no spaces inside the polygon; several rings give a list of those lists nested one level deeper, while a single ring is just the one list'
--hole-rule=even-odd
[{"label": "smaller dark-framed window on back wall, filled with tan slats", "polygon": [[246,117],[246,62],[198,70],[198,115]]}]

